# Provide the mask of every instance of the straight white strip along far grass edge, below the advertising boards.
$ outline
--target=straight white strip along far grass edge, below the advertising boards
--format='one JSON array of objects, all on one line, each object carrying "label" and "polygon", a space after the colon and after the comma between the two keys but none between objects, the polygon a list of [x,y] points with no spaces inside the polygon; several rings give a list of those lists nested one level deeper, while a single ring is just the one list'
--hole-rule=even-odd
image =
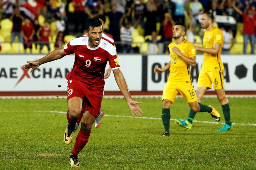
[{"label": "straight white strip along far grass edge, below the advertising boards", "polygon": [[[132,95],[133,98],[162,98],[162,95]],[[216,95],[204,95],[204,98],[217,98]],[[256,95],[226,95],[227,98],[256,98]],[[49,96],[0,96],[0,99],[47,99],[47,98],[67,98],[66,95],[49,95]],[[103,98],[124,98],[123,95],[105,95]],[[177,95],[176,98],[182,98]]]}]

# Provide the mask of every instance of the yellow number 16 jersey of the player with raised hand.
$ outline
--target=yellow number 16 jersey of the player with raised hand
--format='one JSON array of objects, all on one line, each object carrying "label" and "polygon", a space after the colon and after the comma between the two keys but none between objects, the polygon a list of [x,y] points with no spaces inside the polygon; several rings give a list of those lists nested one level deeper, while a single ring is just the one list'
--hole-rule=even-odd
[{"label": "yellow number 16 jersey of the player with raised hand", "polygon": [[184,40],[179,45],[176,45],[175,42],[172,42],[168,45],[171,57],[169,79],[177,84],[185,85],[185,83],[188,83],[191,85],[192,81],[190,65],[188,65],[181,57],[171,51],[174,46],[178,47],[181,53],[188,58],[196,56],[195,47],[187,40]]}]

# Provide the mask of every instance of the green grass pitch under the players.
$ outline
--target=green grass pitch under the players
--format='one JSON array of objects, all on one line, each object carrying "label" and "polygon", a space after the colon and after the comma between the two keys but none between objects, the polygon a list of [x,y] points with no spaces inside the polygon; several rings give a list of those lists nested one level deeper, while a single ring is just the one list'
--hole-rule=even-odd
[{"label": "green grass pitch under the players", "polygon": [[[225,122],[217,98],[203,98],[221,114],[215,122],[208,113],[197,113],[187,131],[174,119],[186,119],[189,105],[176,98],[171,106],[171,137],[164,132],[160,98],[143,101],[142,118],[132,118],[124,99],[102,100],[105,116],[93,127],[89,142],[78,156],[80,169],[95,170],[232,170],[256,169],[256,98],[228,98],[233,130],[216,132]],[[75,169],[66,145],[67,100],[0,99],[0,169]]]}]

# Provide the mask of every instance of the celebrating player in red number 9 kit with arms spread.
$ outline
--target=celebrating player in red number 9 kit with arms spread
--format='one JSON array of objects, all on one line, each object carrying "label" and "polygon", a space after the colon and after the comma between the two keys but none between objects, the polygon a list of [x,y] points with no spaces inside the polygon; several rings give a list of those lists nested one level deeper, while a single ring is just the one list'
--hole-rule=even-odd
[{"label": "celebrating player in red number 9 kit with arms spread", "polygon": [[134,101],[129,93],[126,81],[116,56],[115,47],[108,41],[101,39],[102,23],[98,18],[86,21],[86,35],[72,39],[64,48],[56,49],[45,57],[36,61],[27,61],[24,69],[34,71],[41,64],[61,59],[75,53],[72,71],[66,76],[68,80],[67,96],[67,128],[64,142],[70,144],[77,118],[83,112],[83,119],[76,142],[69,157],[71,166],[80,166],[78,153],[85,147],[91,134],[91,128],[100,113],[102,96],[104,93],[104,72],[107,61],[112,68],[116,83],[127,101],[132,116],[141,117],[143,111],[138,107],[141,102]]}]

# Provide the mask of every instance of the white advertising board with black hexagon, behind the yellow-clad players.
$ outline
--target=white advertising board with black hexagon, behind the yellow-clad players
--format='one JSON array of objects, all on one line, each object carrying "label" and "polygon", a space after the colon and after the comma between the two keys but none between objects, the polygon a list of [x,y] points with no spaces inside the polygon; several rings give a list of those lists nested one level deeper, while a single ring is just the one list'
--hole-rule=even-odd
[{"label": "white advertising board with black hexagon, behind the yellow-clad players", "polygon": [[[221,55],[225,66],[224,84],[226,91],[256,90],[256,56],[255,55]],[[168,55],[148,56],[148,91],[161,91],[165,87],[169,72],[154,75],[154,67],[164,67],[170,61]],[[197,78],[203,64],[203,55],[197,55],[197,66],[191,68],[195,90]],[[211,89],[213,90],[213,88]]]}]

